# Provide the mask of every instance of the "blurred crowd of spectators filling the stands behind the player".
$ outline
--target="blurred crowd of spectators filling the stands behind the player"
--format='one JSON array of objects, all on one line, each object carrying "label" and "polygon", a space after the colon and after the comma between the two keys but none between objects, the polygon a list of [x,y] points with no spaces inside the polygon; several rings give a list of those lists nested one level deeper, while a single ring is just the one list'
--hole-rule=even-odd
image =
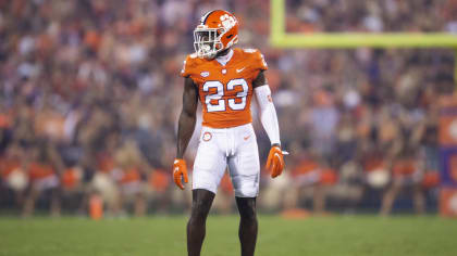
[{"label": "blurred crowd of spectators filling the stands behind the player", "polygon": [[[286,3],[288,31],[457,33],[455,0]],[[262,0],[0,0],[0,210],[86,214],[95,196],[114,216],[187,209],[189,189],[171,179],[178,72],[213,9],[232,11],[238,47],[258,48],[269,64],[291,155],[277,180],[262,171],[263,210],[355,210],[374,200],[390,214],[405,191],[428,210],[439,183],[436,101],[454,90],[453,52],[274,49]],[[270,142],[254,125],[264,163]],[[194,137],[189,166],[197,145]],[[233,210],[232,196],[224,177],[214,210]]]}]

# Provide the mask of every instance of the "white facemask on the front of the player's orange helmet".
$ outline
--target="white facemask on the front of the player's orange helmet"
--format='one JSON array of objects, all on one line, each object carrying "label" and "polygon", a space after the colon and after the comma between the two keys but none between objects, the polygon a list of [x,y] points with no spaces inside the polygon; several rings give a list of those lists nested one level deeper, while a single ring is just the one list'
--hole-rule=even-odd
[{"label": "white facemask on the front of the player's orange helmet", "polygon": [[214,59],[218,52],[224,50],[221,37],[224,28],[207,28],[198,26],[194,30],[194,48],[198,57]]}]

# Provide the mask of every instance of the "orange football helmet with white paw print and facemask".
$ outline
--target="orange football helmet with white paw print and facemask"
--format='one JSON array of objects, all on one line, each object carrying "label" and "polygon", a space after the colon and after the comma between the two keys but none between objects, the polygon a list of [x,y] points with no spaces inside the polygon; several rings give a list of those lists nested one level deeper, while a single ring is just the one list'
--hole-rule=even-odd
[{"label": "orange football helmet with white paw print and facemask", "polygon": [[226,11],[205,14],[194,30],[194,48],[199,57],[213,59],[218,52],[238,42],[238,21]]}]

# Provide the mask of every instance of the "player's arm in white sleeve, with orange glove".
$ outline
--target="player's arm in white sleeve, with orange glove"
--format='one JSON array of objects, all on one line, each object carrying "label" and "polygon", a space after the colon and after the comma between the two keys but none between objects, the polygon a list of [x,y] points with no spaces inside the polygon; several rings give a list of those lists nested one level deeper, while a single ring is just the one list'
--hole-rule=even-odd
[{"label": "player's arm in white sleeve, with orange glove", "polygon": [[284,169],[284,158],[281,150],[280,126],[277,123],[276,110],[271,98],[271,90],[268,86],[263,71],[252,81],[254,92],[259,106],[260,120],[271,142],[271,150],[267,159],[267,169],[271,177],[280,176]]}]

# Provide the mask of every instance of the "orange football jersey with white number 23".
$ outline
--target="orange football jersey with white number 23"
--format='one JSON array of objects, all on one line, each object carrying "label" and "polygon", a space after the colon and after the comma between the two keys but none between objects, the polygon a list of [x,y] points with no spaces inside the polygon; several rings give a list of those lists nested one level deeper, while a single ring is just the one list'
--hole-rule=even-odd
[{"label": "orange football jersey with white number 23", "polygon": [[198,87],[203,110],[203,126],[228,128],[252,121],[250,102],[252,81],[260,71],[268,69],[258,50],[233,49],[226,65],[190,54],[181,75],[189,77]]}]

